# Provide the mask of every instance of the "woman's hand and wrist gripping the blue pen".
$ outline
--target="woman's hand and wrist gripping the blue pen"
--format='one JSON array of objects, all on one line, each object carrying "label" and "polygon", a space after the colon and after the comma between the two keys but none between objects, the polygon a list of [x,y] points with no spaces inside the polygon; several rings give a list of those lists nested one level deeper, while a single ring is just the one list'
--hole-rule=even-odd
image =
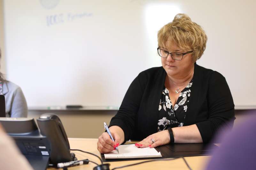
[{"label": "woman's hand and wrist gripping the blue pen", "polygon": [[111,126],[109,130],[115,141],[112,141],[107,132],[102,133],[97,142],[97,149],[100,153],[109,153],[124,142],[124,131],[119,126]]}]

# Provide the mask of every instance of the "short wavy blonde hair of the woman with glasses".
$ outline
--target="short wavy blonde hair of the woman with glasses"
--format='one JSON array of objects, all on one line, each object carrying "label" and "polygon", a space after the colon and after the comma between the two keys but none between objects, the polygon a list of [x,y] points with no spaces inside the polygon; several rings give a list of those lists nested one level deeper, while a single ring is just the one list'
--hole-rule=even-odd
[{"label": "short wavy blonde hair of the woman with glasses", "polygon": [[207,36],[200,25],[186,14],[177,14],[173,22],[164,25],[157,34],[158,46],[166,47],[167,41],[175,42],[182,50],[193,51],[195,62],[204,53]]}]

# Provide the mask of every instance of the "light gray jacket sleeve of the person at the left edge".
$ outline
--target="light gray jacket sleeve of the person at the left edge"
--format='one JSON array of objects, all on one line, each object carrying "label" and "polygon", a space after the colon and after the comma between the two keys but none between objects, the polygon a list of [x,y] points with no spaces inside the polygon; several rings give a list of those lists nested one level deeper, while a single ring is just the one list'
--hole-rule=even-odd
[{"label": "light gray jacket sleeve of the person at the left edge", "polygon": [[10,116],[27,117],[27,102],[20,87],[13,93]]}]

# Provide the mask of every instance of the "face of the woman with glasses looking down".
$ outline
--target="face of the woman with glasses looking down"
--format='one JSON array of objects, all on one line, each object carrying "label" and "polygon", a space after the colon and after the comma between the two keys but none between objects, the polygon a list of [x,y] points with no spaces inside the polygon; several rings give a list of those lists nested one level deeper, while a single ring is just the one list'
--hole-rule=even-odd
[{"label": "face of the woman with glasses looking down", "polygon": [[[181,50],[175,43],[167,43],[167,49],[164,47],[161,47],[161,49],[168,51],[169,53],[173,53],[173,52],[187,53],[188,52],[188,51]],[[167,58],[161,57],[161,61],[162,61],[162,66],[165,69],[167,75],[175,78],[183,78],[187,76],[191,72],[194,66],[191,53],[183,55],[182,60],[174,60],[171,54],[169,54]]]}]

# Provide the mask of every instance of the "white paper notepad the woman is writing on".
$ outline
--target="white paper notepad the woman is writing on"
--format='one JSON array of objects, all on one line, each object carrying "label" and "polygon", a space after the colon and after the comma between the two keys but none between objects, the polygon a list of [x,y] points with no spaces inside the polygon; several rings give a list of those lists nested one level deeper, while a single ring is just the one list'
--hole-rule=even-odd
[{"label": "white paper notepad the woman is writing on", "polygon": [[154,148],[137,148],[134,144],[119,145],[117,151],[104,154],[105,159],[155,158],[162,157]]}]

